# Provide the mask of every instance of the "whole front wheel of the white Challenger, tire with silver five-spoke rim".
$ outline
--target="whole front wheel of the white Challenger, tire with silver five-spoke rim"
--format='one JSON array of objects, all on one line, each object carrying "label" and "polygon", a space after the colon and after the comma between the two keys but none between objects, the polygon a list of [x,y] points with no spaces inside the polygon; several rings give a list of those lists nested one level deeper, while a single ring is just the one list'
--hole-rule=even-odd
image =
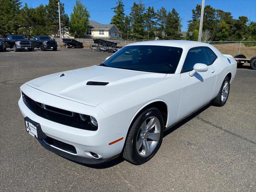
[{"label": "whole front wheel of the white Challenger, tire with silver five-spoke rim", "polygon": [[163,117],[157,108],[142,112],[131,125],[123,158],[138,165],[150,160],[160,148],[163,130]]}]

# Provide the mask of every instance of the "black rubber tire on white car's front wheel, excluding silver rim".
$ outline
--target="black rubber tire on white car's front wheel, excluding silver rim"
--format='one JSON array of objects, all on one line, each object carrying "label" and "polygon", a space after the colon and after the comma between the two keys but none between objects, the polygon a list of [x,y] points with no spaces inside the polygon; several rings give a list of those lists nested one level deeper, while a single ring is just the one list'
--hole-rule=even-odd
[{"label": "black rubber tire on white car's front wheel, excluding silver rim", "polygon": [[[156,117],[160,122],[160,138],[152,153],[149,156],[142,157],[136,149],[137,136],[140,131],[140,126],[151,116]],[[136,119],[134,119],[133,123],[131,124],[130,130],[126,138],[126,143],[124,145],[123,158],[131,162],[132,164],[144,164],[145,162],[150,160],[160,148],[162,144],[163,132],[164,120],[161,112],[157,108],[149,108],[145,110]]]}]

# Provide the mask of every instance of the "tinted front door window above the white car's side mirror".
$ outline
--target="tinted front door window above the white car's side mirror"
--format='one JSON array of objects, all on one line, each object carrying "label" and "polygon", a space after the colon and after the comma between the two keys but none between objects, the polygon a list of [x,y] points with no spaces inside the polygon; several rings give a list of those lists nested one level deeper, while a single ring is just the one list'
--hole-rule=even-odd
[{"label": "tinted front door window above the white car's side mirror", "polygon": [[208,53],[204,47],[195,47],[188,51],[185,62],[183,64],[182,72],[188,72],[193,70],[194,64],[203,63],[210,65],[210,59]]}]

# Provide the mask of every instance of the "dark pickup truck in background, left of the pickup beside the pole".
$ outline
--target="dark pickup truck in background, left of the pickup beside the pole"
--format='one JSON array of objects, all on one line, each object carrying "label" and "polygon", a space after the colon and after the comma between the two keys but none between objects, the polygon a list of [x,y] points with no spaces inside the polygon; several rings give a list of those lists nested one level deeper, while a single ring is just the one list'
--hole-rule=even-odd
[{"label": "dark pickup truck in background, left of the pickup beside the pole", "polygon": [[6,37],[6,44],[9,48],[13,48],[14,52],[18,50],[32,51],[32,42],[25,38],[23,35],[8,35]]}]

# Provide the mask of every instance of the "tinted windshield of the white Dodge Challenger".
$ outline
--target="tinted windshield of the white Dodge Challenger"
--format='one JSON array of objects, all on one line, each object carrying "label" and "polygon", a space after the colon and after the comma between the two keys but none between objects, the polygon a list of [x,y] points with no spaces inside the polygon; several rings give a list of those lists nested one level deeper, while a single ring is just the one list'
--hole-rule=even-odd
[{"label": "tinted windshield of the white Dodge Challenger", "polygon": [[182,48],[169,46],[126,46],[103,63],[103,66],[155,73],[174,73]]}]

